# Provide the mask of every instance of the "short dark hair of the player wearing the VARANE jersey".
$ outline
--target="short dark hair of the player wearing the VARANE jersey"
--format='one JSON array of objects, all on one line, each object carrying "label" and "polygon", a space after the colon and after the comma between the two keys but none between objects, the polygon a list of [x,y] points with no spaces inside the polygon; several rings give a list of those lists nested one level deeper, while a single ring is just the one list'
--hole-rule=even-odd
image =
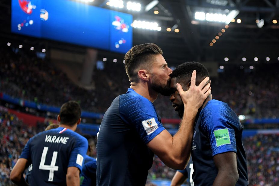
[{"label": "short dark hair of the player wearing the VARANE jersey", "polygon": [[78,122],[81,115],[81,108],[76,101],[68,101],[60,108],[60,123],[73,126]]}]

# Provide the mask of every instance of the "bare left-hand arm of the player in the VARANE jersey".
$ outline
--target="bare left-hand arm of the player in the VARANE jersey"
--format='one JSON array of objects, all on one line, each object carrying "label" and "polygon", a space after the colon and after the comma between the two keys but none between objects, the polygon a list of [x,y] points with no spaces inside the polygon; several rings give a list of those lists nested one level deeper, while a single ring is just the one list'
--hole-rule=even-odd
[{"label": "bare left-hand arm of the player in the VARANE jersey", "polygon": [[25,170],[27,162],[28,160],[24,158],[19,158],[14,168],[11,171],[10,179],[16,185],[29,185],[26,183],[25,179],[23,178],[23,172]]}]

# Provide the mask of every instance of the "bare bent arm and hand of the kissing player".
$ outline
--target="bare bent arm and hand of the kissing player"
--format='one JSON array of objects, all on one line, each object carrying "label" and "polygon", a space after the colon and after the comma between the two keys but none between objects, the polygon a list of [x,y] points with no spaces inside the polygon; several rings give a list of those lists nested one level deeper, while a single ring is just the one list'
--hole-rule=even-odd
[{"label": "bare bent arm and hand of the kissing player", "polygon": [[190,158],[195,118],[198,109],[210,94],[208,80],[209,78],[206,77],[199,86],[196,86],[196,71],[194,70],[188,91],[183,91],[181,85],[177,84],[177,90],[184,103],[184,115],[179,130],[173,137],[164,130],[147,144],[172,169],[184,169]]}]

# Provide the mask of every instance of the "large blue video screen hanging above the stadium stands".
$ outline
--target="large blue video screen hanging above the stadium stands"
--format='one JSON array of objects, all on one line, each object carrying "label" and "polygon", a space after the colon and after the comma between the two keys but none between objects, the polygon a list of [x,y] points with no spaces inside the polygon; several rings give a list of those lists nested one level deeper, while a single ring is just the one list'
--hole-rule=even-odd
[{"label": "large blue video screen hanging above the stadium stands", "polygon": [[130,14],[70,0],[12,0],[11,32],[126,53]]}]

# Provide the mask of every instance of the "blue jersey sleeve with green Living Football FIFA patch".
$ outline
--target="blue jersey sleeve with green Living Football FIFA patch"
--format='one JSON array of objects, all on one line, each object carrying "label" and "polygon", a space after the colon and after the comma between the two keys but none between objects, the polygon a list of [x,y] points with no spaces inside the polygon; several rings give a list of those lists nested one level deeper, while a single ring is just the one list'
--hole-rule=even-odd
[{"label": "blue jersey sleeve with green Living Football FIFA patch", "polygon": [[208,136],[212,157],[220,153],[237,152],[233,125],[228,121],[230,116],[228,108],[222,105],[215,105],[203,113],[201,126]]}]

